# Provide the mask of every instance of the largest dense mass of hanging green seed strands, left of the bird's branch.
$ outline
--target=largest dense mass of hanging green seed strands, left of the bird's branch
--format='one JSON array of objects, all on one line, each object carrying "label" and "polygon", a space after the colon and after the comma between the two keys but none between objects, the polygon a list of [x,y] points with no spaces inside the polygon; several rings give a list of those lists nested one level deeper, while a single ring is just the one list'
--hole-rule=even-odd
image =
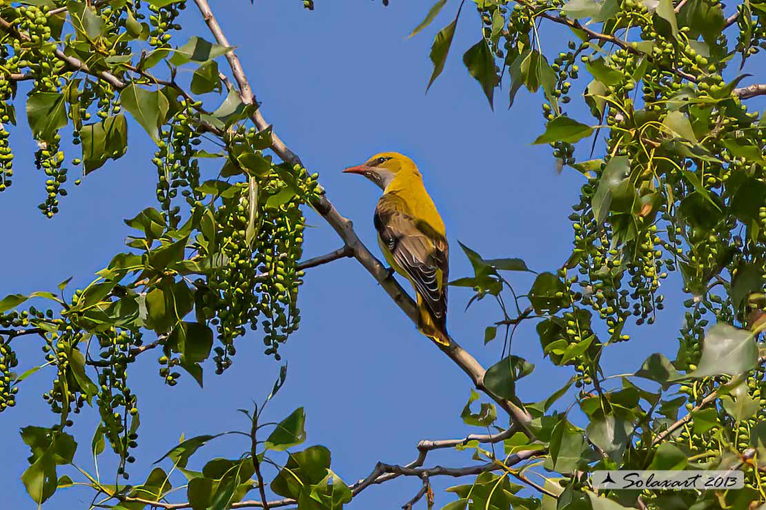
[{"label": "largest dense mass of hanging green seed strands, left of the bird's branch", "polygon": [[214,349],[217,372],[231,365],[234,339],[244,335],[246,326],[257,330],[260,320],[265,352],[276,359],[279,345],[298,328],[296,300],[303,271],[296,263],[303,253],[304,229],[300,206],[319,193],[317,177],[300,165],[274,166],[259,179],[252,223],[247,184],[235,184],[236,191],[227,193],[215,212],[223,267],[207,282],[198,282],[197,300],[201,317],[216,326],[221,342]]}]

